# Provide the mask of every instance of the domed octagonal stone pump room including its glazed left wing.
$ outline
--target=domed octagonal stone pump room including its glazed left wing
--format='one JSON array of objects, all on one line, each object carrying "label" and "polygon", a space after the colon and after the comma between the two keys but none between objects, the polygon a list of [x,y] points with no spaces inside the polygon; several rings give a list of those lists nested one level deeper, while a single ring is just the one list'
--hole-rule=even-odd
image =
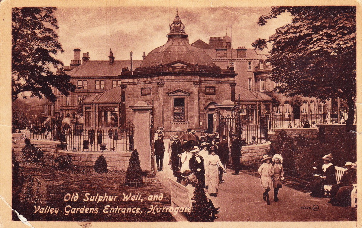
[{"label": "domed octagonal stone pump room including its glazed left wing", "polygon": [[118,125],[132,122],[130,107],[147,103],[154,127],[163,127],[165,136],[188,128],[212,129],[215,106],[235,101],[237,74],[232,67],[220,69],[205,51],[189,44],[178,14],[167,37],[139,67],[122,69],[119,86],[84,100],[86,128],[103,127],[111,113]]}]

